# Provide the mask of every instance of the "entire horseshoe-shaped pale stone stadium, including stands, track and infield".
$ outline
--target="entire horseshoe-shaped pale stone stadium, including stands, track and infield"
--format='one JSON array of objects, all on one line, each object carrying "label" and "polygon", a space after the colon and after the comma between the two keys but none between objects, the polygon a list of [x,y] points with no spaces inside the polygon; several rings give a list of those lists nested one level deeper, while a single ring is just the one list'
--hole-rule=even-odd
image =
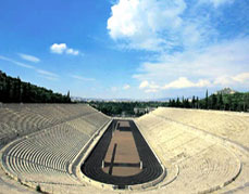
[{"label": "entire horseshoe-shaped pale stone stadium, including stands, track and infield", "polygon": [[249,193],[249,114],[0,105],[0,193]]}]

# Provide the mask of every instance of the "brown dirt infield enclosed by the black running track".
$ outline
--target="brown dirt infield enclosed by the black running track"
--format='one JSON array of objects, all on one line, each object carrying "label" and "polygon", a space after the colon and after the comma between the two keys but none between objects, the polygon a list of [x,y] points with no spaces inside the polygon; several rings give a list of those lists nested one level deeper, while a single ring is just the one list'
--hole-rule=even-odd
[{"label": "brown dirt infield enclosed by the black running track", "polygon": [[[140,158],[129,122],[119,121],[117,126],[112,133],[112,140],[104,157],[103,171],[120,177],[139,173],[141,171]],[[121,128],[127,129],[120,130]]]}]

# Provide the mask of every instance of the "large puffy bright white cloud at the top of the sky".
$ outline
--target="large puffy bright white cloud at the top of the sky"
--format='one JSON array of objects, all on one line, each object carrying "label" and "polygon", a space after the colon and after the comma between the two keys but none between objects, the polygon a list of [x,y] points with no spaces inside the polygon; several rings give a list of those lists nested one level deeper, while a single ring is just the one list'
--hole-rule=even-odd
[{"label": "large puffy bright white cloud at the top of the sky", "polygon": [[120,0],[111,8],[107,28],[113,39],[125,40],[132,49],[159,51],[173,43],[185,9],[184,0]]}]

